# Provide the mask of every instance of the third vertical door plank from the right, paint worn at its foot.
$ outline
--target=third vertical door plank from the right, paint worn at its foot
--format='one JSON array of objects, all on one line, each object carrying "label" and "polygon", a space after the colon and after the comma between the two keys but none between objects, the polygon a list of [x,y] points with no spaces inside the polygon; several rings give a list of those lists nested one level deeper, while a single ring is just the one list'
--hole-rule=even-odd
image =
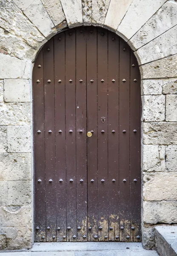
[{"label": "third vertical door plank from the right, paint worn at its foot", "polygon": [[108,224],[119,241],[119,38],[108,32]]}]

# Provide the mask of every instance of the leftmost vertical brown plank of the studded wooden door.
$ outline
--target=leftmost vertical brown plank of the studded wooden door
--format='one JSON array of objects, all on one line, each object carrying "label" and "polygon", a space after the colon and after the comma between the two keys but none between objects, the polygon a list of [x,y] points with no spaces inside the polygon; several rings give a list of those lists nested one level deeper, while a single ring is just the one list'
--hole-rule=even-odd
[{"label": "leftmost vertical brown plank of the studded wooden door", "polygon": [[[39,81],[39,82],[38,82]],[[33,70],[35,241],[46,241],[43,49]],[[39,131],[39,132],[37,132]],[[40,181],[41,180],[41,181]]]}]

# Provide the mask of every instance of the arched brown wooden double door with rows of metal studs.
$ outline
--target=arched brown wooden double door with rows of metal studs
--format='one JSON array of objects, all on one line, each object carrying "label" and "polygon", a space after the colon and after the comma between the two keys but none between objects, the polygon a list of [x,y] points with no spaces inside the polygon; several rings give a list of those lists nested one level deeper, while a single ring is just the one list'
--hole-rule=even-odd
[{"label": "arched brown wooden double door with rows of metal studs", "polygon": [[33,100],[35,241],[140,241],[140,72],[128,44],[96,27],[55,35],[35,61]]}]

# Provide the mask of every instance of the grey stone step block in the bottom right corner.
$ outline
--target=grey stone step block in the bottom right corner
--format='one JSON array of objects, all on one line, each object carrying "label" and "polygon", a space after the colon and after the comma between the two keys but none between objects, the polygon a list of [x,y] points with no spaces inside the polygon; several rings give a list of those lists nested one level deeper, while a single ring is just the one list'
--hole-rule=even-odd
[{"label": "grey stone step block in the bottom right corner", "polygon": [[177,256],[177,226],[155,227],[155,241],[160,256]]}]

